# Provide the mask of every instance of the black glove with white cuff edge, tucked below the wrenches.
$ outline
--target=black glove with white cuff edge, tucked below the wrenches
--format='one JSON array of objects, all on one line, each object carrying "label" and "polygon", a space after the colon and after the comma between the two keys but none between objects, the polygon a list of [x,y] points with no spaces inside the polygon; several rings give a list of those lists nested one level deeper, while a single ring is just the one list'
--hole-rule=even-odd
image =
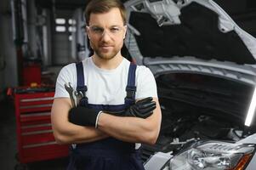
[{"label": "black glove with white cuff edge, tucked below the wrenches", "polygon": [[71,108],[68,114],[69,122],[81,126],[95,126],[96,119],[100,111],[95,111],[94,109],[88,109],[86,107],[77,106]]}]

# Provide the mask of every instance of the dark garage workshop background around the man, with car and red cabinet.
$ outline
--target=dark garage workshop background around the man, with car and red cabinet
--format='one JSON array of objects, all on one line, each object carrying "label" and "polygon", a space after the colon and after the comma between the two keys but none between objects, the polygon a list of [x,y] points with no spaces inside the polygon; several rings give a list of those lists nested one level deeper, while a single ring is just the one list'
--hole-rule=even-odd
[{"label": "dark garage workshop background around the man, with car and red cabinet", "polygon": [[[162,124],[146,170],[256,167],[256,1],[122,0],[122,56],[155,76]],[[90,57],[88,0],[0,1],[0,169],[58,170],[50,111],[60,69]]]}]

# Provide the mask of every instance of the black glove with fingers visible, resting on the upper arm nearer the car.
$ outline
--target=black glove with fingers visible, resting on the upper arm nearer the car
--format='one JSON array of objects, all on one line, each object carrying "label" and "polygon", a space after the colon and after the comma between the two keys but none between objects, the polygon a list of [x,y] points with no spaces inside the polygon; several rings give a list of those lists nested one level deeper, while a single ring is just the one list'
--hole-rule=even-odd
[{"label": "black glove with fingers visible, resting on the upper arm nearer the car", "polygon": [[146,118],[153,114],[156,109],[156,102],[152,101],[151,97],[141,99],[134,105],[128,107],[125,111],[104,111],[115,116],[136,116],[140,118]]}]

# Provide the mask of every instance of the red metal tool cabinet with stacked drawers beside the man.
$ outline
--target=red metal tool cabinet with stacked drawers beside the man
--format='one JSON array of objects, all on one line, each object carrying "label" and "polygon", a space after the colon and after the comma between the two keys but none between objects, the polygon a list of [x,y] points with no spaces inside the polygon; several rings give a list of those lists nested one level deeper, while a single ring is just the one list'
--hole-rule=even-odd
[{"label": "red metal tool cabinet with stacked drawers beside the man", "polygon": [[20,163],[68,155],[68,145],[54,140],[50,120],[53,99],[54,92],[14,93]]}]

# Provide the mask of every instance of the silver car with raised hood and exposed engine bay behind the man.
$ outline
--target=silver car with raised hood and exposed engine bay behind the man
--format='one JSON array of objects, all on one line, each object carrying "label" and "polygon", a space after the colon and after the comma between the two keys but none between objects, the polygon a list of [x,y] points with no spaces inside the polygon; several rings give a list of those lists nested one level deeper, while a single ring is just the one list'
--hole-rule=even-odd
[{"label": "silver car with raised hood and exposed engine bay behind the man", "polygon": [[256,40],[212,0],[129,0],[125,46],[156,77],[146,170],[256,168]]}]

